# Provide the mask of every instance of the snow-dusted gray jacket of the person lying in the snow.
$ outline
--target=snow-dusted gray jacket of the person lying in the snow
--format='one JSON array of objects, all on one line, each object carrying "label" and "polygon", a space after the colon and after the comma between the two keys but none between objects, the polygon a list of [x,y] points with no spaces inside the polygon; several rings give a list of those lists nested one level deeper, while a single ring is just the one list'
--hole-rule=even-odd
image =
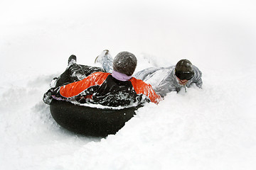
[{"label": "snow-dusted gray jacket of the person lying in the snow", "polygon": [[202,72],[193,66],[194,77],[188,81],[186,86],[178,84],[178,79],[175,76],[175,66],[171,67],[150,67],[137,72],[133,75],[136,79],[142,79],[148,84],[151,84],[156,94],[164,97],[171,91],[181,91],[181,88],[190,87],[191,84],[195,83],[199,88],[202,87],[203,81],[201,79]]}]

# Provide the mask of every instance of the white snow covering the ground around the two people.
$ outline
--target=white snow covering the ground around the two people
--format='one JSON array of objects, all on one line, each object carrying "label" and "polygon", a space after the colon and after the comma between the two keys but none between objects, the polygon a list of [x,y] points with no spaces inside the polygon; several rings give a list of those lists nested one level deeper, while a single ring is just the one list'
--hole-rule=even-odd
[{"label": "white snow covering the ground around the two people", "polygon": [[[255,169],[255,1],[1,1],[0,169]],[[55,123],[43,94],[70,55],[186,58],[203,89],[139,108],[116,135]]]}]

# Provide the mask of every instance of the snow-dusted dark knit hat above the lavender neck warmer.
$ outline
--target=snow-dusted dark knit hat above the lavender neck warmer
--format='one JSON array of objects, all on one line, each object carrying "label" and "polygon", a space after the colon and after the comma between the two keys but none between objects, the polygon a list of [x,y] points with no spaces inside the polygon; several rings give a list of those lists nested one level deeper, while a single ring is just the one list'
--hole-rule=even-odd
[{"label": "snow-dusted dark knit hat above the lavender neck warmer", "polygon": [[137,67],[137,58],[131,52],[119,52],[113,61],[116,72],[132,76]]}]

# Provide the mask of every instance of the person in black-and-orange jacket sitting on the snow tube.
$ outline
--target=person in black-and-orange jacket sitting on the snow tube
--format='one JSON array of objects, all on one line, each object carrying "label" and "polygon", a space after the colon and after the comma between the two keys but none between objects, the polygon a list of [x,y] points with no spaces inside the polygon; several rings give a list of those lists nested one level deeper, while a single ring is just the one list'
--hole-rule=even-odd
[{"label": "person in black-and-orange jacket sitting on the snow tube", "polygon": [[[107,52],[105,50],[105,54]],[[112,73],[108,73],[100,67],[76,64],[75,55],[71,55],[68,69],[56,79],[55,87],[44,94],[43,101],[47,104],[52,100],[75,101],[113,107],[159,103],[161,96],[150,84],[132,77],[137,67],[135,55],[119,52],[112,63]]]}]

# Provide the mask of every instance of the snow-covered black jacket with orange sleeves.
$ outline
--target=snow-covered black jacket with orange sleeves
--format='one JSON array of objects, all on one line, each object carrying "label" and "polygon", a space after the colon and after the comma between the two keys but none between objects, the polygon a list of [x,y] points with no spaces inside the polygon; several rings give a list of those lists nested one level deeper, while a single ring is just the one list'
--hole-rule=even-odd
[{"label": "snow-covered black jacket with orange sleeves", "polygon": [[105,106],[129,106],[144,101],[159,103],[161,100],[150,84],[134,77],[129,81],[119,81],[105,72],[96,72],[81,81],[60,86],[58,93],[53,96],[75,98]]}]

